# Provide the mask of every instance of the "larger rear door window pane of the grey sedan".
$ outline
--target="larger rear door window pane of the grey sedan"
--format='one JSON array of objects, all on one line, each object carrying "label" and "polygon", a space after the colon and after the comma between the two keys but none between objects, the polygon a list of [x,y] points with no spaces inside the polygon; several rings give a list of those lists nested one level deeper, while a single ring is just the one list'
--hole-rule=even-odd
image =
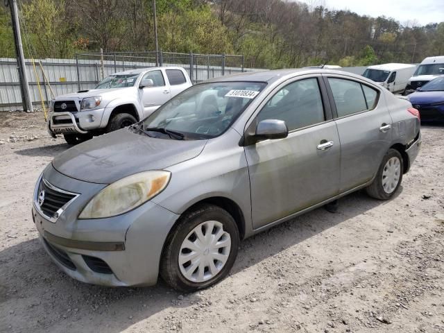
[{"label": "larger rear door window pane of the grey sedan", "polygon": [[367,110],[361,84],[343,78],[328,78],[338,117]]}]

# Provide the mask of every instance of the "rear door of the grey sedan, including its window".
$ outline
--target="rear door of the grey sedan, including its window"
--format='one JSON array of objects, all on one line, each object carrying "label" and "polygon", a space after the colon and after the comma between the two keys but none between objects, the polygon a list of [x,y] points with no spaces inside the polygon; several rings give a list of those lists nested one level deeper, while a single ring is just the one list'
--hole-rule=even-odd
[{"label": "rear door of the grey sedan, including its window", "polygon": [[391,145],[384,94],[356,78],[325,75],[341,141],[341,193],[373,179]]}]

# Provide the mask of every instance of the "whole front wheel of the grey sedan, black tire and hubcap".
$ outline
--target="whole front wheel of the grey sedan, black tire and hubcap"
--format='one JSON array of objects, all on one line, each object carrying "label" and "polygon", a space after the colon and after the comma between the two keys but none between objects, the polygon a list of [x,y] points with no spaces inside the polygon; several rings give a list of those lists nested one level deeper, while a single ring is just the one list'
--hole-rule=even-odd
[{"label": "whole front wheel of the grey sedan, black tire and hubcap", "polygon": [[[196,246],[202,244],[202,238],[198,237],[196,230],[200,230],[200,237],[205,238],[209,228],[212,228],[212,235],[218,235],[217,239],[211,237],[213,242],[210,241],[210,244],[216,246]],[[188,244],[195,250],[190,249]],[[167,284],[180,291],[190,292],[210,287],[228,275],[238,247],[239,230],[232,216],[221,207],[201,205],[196,210],[186,212],[169,234],[162,252],[160,275]],[[192,257],[189,261],[185,258],[187,255]]]}]

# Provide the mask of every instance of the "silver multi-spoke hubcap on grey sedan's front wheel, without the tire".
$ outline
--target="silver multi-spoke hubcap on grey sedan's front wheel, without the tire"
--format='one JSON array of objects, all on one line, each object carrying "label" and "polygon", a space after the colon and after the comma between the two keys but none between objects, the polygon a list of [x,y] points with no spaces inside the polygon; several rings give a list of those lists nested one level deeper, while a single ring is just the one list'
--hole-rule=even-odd
[{"label": "silver multi-spoke hubcap on grey sedan's front wheel, without the tire", "polygon": [[180,246],[179,267],[191,282],[214,278],[230,255],[231,237],[218,221],[205,221],[191,230]]}]

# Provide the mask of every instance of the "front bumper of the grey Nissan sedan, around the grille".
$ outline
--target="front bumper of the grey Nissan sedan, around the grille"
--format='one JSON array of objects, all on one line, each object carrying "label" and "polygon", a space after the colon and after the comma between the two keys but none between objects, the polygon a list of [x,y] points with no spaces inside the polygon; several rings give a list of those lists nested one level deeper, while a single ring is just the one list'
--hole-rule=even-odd
[{"label": "front bumper of the grey Nissan sedan, around the grille", "polygon": [[62,271],[82,282],[112,287],[157,282],[164,241],[177,214],[147,202],[120,216],[77,219],[92,197],[87,187],[100,186],[63,176],[52,167],[46,168],[43,177],[56,187],[80,194],[55,223],[42,214],[38,203],[33,205],[40,241]]}]

